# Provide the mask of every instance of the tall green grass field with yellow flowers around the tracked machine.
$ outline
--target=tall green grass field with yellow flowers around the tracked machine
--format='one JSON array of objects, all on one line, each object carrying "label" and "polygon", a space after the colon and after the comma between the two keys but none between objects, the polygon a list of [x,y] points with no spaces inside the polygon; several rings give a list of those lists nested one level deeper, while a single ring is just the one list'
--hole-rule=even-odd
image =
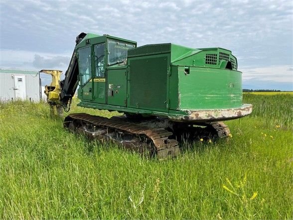
[{"label": "tall green grass field with yellow flowers around the tracked machine", "polygon": [[293,96],[244,102],[232,138],[163,162],[68,133],[45,103],[0,103],[0,218],[292,219]]}]

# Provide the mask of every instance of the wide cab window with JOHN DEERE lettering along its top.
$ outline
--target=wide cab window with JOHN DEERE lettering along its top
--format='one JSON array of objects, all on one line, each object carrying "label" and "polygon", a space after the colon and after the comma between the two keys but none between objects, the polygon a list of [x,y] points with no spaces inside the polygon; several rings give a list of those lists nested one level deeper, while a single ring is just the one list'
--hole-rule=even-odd
[{"label": "wide cab window with JOHN DEERE lettering along its top", "polygon": [[108,65],[124,62],[127,59],[127,50],[135,46],[129,42],[108,40]]}]

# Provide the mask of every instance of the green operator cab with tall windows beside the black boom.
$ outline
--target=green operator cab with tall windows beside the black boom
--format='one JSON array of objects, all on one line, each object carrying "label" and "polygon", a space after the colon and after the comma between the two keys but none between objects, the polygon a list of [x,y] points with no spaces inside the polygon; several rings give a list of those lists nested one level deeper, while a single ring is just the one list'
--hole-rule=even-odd
[{"label": "green operator cab with tall windows beside the black boom", "polygon": [[[135,41],[88,33],[76,46],[80,78],[79,98],[106,104],[107,88],[109,87],[108,68],[117,64],[126,68],[127,51],[136,46]],[[117,77],[119,76],[117,75]],[[126,83],[127,78],[125,86]],[[119,93],[118,90],[115,92]],[[112,93],[114,95],[114,91]]]}]

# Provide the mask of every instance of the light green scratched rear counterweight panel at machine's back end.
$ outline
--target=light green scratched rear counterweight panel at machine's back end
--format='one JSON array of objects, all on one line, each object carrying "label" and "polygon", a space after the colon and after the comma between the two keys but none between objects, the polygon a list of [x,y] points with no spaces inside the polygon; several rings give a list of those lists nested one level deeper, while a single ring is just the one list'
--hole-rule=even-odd
[{"label": "light green scratched rear counterweight panel at machine's back end", "polygon": [[180,109],[226,109],[242,105],[241,72],[178,66]]}]

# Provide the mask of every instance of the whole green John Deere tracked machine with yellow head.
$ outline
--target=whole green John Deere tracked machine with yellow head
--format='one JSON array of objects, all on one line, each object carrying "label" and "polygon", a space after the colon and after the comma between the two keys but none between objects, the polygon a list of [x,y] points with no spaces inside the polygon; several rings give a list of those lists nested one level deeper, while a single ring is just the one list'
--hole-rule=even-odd
[{"label": "whole green John Deere tracked machine with yellow head", "polygon": [[171,43],[137,47],[135,41],[80,33],[65,79],[61,71],[46,86],[52,109],[66,112],[78,88],[78,106],[124,113],[105,118],[70,114],[64,127],[106,139],[158,159],[176,157],[183,139],[230,135],[222,122],[249,115],[242,103],[242,73],[223,48],[188,48]]}]

